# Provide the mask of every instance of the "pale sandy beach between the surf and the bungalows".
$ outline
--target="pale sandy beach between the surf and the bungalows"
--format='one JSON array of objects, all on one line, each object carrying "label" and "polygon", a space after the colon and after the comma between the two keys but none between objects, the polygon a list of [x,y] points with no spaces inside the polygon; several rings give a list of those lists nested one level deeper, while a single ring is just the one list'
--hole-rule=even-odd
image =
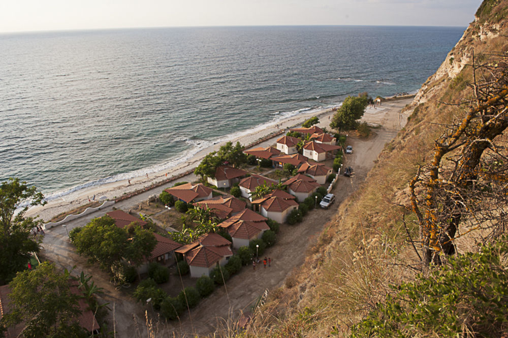
[{"label": "pale sandy beach between the surf and the bungalows", "polygon": [[[258,141],[261,138],[266,137],[267,135],[270,135],[271,133],[275,133],[277,131],[282,130],[287,131],[288,128],[299,126],[306,119],[312,116],[319,116],[320,124],[318,126],[328,127],[328,125],[330,124],[329,118],[331,118],[333,112],[334,108],[328,108],[319,111],[312,111],[308,113],[294,115],[285,120],[273,122],[272,125],[268,126],[263,130],[255,131],[236,138],[232,138],[230,141],[232,141],[233,144],[235,144],[238,141],[242,145],[248,145]],[[264,141],[256,146],[266,146],[265,144],[273,144],[275,143],[275,139],[278,137],[280,137],[280,135],[268,141]],[[171,176],[176,176],[196,168],[200,164],[201,160],[209,152],[218,150],[220,146],[225,144],[226,142],[227,141],[216,143],[210,147],[201,149],[192,158],[172,168],[167,168],[162,171],[147,173],[138,177],[133,177],[130,179],[130,184],[129,180],[124,179],[116,182],[106,183],[104,185],[80,189],[63,197],[51,200],[45,206],[30,207],[27,210],[26,215],[32,217],[38,215],[45,222],[48,222],[50,219],[52,219],[53,217],[57,216],[62,212],[68,212],[81,205],[87,204],[89,200],[92,201],[93,198],[95,198],[96,201],[106,199],[112,200],[124,194],[134,192],[138,189],[149,187],[153,183],[163,181],[165,179],[170,178]],[[187,177],[186,180],[195,180],[195,179],[196,177],[194,175],[189,175],[189,177]]]}]

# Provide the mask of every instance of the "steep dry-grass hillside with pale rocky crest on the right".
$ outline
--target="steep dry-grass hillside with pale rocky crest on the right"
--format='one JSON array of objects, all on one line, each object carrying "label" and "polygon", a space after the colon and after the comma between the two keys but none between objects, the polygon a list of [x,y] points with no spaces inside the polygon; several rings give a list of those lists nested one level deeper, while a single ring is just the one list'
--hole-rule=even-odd
[{"label": "steep dry-grass hillside with pale rocky crest on the right", "polygon": [[[488,97],[492,87],[506,88],[507,37],[508,0],[485,0],[463,37],[436,73],[423,84],[412,104],[405,108],[411,112],[405,128],[385,146],[363,186],[338,207],[319,243],[308,252],[306,263],[288,277],[282,288],[268,295],[245,332],[247,336],[348,336],[352,326],[365,318],[376,303],[384,302],[387,295],[394,294],[391,284],[415,280],[424,265],[418,256],[421,250],[415,250],[421,246],[422,229],[411,205],[409,183],[420,166],[429,168],[435,160],[436,149],[439,150],[435,140],[440,137],[443,140],[445,136],[449,140],[453,136],[450,130],[460,128],[461,121],[464,122],[468,112],[480,102],[475,99],[475,90],[485,91]],[[478,66],[474,75],[477,76],[476,83],[482,85],[473,85],[471,65]],[[505,114],[505,100],[498,100],[496,104]],[[505,123],[506,117],[503,116]],[[495,143],[492,148],[497,151],[492,150],[489,156],[504,159],[505,129],[500,127],[496,132],[488,142]],[[470,130],[464,135],[467,138]],[[477,141],[471,143],[474,145]],[[467,143],[461,143],[454,149],[455,153],[444,154],[440,174],[454,170],[454,156],[458,156]],[[497,180],[505,182],[505,162],[495,163],[498,165]],[[424,187],[418,188],[416,193],[422,191]],[[503,193],[505,195],[505,191]],[[481,204],[482,201],[478,198],[477,202]],[[493,203],[493,207],[495,205]],[[496,209],[495,217],[503,223],[506,204],[497,205],[500,209]],[[459,254],[477,252],[478,243],[487,243],[504,232],[504,229],[496,228],[493,235],[492,227],[486,226],[492,220],[485,218],[482,210],[466,209],[472,216],[469,220],[475,218],[474,212],[482,218],[475,227],[469,224],[469,228],[465,225],[457,230],[453,250]],[[447,264],[446,257],[440,259]],[[423,270],[426,275],[431,275],[425,268]],[[462,333],[469,329],[473,319],[464,320]],[[505,329],[501,322],[495,327],[498,331]],[[498,333],[493,336],[500,336]],[[475,335],[470,332],[470,336]]]}]

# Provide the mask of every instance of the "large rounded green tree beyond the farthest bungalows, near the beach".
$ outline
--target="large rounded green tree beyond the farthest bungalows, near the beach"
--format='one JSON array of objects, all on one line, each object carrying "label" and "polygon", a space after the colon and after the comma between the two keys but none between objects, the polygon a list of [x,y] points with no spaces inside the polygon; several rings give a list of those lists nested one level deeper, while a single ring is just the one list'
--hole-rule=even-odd
[{"label": "large rounded green tree beyond the farthest bungalows, near the beach", "polygon": [[330,122],[330,128],[337,130],[350,130],[356,128],[368,105],[366,97],[348,96],[342,106],[337,109]]}]

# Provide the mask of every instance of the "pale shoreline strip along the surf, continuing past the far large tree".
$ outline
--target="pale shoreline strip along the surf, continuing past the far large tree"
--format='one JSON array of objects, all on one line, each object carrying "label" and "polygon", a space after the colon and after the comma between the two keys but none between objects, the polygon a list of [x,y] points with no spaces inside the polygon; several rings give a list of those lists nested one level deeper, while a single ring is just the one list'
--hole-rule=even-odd
[{"label": "pale shoreline strip along the surf, continuing past the far large tree", "polygon": [[[389,97],[388,101],[403,100],[414,95],[400,96],[400,97]],[[104,184],[89,186],[82,189],[77,189],[64,196],[60,196],[53,200],[48,201],[45,206],[30,207],[26,215],[27,216],[39,216],[45,223],[49,222],[53,217],[58,216],[63,212],[69,212],[73,209],[78,208],[89,201],[97,200],[124,200],[133,196],[137,193],[145,192],[151,189],[160,187],[172,180],[176,180],[185,176],[190,176],[190,180],[194,180],[192,171],[196,168],[201,160],[212,151],[216,151],[220,146],[226,142],[231,141],[235,144],[237,141],[240,142],[245,148],[250,148],[261,143],[266,143],[285,132],[286,129],[293,128],[301,125],[306,119],[312,116],[318,116],[320,118],[320,124],[318,126],[328,127],[329,119],[333,115],[334,110],[340,105],[323,108],[320,110],[310,110],[297,115],[292,115],[284,119],[267,122],[267,124],[257,126],[252,132],[242,131],[232,139],[228,140],[228,136],[221,137],[223,141],[214,142],[211,146],[198,150],[194,155],[188,159],[174,165],[173,167],[164,168],[156,172],[147,174],[141,174],[131,179],[120,179],[113,182]],[[380,107],[383,109],[383,106]],[[367,107],[367,110],[369,107]],[[266,126],[265,128],[262,128]],[[246,133],[245,133],[246,132]],[[273,134],[273,135],[272,135]],[[268,137],[269,135],[272,135]],[[268,137],[268,138],[267,138]],[[265,139],[266,138],[266,139]],[[270,141],[272,142],[272,141]],[[272,142],[272,143],[273,143]],[[271,144],[271,143],[270,143]],[[137,170],[138,172],[141,171]],[[147,178],[148,176],[148,178]],[[130,184],[129,184],[130,181]],[[72,188],[71,188],[72,189]],[[137,192],[137,193],[136,193]],[[95,197],[95,199],[93,199]]]}]

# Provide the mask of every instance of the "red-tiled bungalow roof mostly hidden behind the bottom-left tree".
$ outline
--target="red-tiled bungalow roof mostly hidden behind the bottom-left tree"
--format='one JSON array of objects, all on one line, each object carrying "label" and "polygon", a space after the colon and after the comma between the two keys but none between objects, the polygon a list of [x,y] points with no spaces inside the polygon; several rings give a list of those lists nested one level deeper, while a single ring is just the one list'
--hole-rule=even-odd
[{"label": "red-tiled bungalow roof mostly hidden behind the bottom-left tree", "polygon": [[[82,294],[78,287],[76,286],[76,282],[69,280],[69,288],[74,294]],[[11,288],[9,285],[0,286],[0,320],[4,317],[4,315],[9,314],[11,312],[10,307],[10,299],[9,294],[11,293]],[[80,298],[78,300],[78,309],[81,314],[77,315],[75,320],[83,329],[85,329],[91,335],[99,334],[99,323],[97,319],[93,315],[93,312],[88,308],[85,300]],[[14,326],[6,327],[6,330],[0,333],[0,336],[4,336],[5,338],[14,338],[23,336],[23,330],[26,327],[26,322],[21,322]]]}]

